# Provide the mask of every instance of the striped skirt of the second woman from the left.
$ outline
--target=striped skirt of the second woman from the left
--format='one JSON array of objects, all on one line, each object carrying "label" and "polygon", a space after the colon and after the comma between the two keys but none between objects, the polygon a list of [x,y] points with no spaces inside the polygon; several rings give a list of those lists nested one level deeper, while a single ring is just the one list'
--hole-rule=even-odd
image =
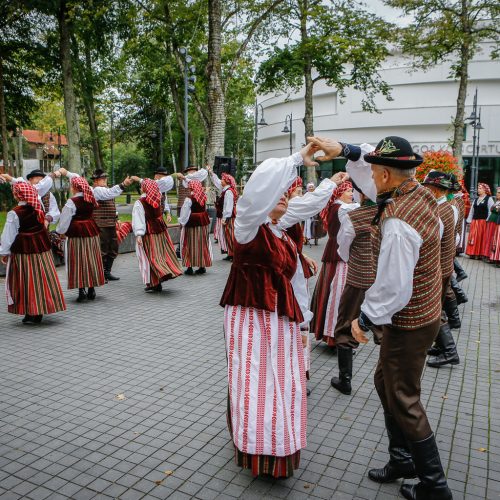
[{"label": "striped skirt of the second woman from the left", "polygon": [[65,261],[68,290],[104,285],[99,235],[67,238]]}]

